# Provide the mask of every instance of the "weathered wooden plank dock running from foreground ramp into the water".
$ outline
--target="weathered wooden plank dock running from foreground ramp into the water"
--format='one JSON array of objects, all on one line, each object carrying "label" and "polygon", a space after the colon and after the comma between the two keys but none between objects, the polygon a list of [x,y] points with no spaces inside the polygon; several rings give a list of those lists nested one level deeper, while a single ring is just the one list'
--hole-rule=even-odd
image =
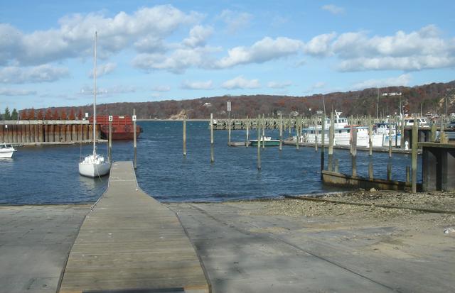
[{"label": "weathered wooden plank dock running from foreground ramp into the water", "polygon": [[132,162],[113,163],[109,187],[80,228],[59,292],[114,290],[210,292],[176,214],[139,189]]}]

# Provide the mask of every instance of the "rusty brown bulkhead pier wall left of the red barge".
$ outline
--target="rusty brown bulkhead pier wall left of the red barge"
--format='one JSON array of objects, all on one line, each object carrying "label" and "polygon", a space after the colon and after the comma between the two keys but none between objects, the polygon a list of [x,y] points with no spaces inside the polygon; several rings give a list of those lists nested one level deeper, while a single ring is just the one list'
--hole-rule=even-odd
[{"label": "rusty brown bulkhead pier wall left of the red barge", "polygon": [[[95,129],[100,139],[100,126]],[[0,121],[0,143],[45,145],[89,143],[93,126],[88,120],[20,120]]]}]

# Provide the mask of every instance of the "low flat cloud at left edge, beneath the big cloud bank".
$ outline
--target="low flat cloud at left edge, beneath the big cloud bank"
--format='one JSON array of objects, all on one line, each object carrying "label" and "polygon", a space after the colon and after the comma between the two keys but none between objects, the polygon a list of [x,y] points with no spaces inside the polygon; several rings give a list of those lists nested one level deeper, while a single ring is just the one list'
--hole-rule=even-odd
[{"label": "low flat cloud at left edge, beneath the big cloud bank", "polygon": [[68,68],[39,65],[35,67],[1,67],[0,83],[24,84],[31,82],[54,82],[68,76]]}]

